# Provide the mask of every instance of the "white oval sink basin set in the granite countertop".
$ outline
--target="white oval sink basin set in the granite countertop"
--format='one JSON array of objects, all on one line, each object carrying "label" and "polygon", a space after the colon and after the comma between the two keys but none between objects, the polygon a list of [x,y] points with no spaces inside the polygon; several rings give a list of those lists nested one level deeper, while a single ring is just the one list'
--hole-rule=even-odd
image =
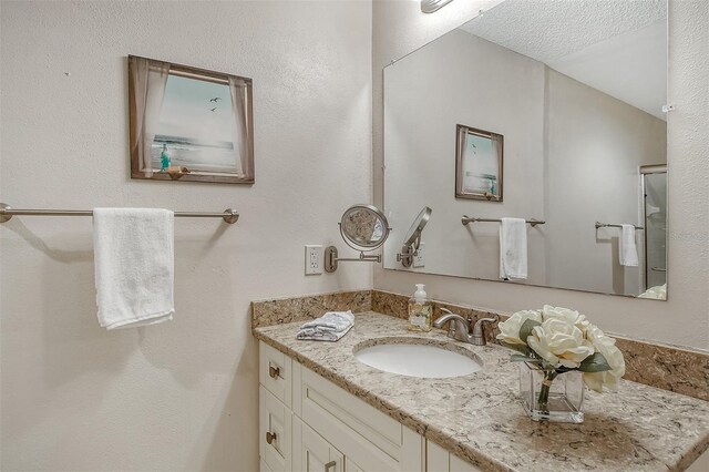
[{"label": "white oval sink basin set in the granite countertop", "polygon": [[482,366],[471,357],[430,345],[377,345],[354,352],[367,366],[401,376],[443,379],[477,372]]}]

